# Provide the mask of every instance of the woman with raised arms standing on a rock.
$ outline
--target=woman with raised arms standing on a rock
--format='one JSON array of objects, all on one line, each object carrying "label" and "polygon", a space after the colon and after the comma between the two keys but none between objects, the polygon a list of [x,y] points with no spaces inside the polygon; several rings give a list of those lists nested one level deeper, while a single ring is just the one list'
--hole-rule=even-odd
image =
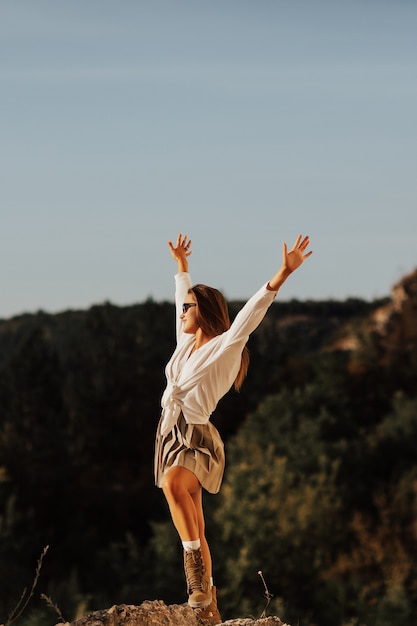
[{"label": "woman with raised arms standing on a rock", "polygon": [[[204,533],[203,488],[217,493],[223,478],[224,449],[209,421],[220,398],[239,389],[248,368],[246,343],[261,323],[288,276],[307,259],[308,237],[299,235],[282,265],[230,324],[222,294],[192,286],[188,274],[191,240],[181,233],[168,242],[177,262],[175,303],[177,345],[166,366],[167,387],[155,448],[155,481],[162,488],[184,549],[188,603],[217,613],[210,550]],[[208,609],[206,608],[208,607]]]}]

